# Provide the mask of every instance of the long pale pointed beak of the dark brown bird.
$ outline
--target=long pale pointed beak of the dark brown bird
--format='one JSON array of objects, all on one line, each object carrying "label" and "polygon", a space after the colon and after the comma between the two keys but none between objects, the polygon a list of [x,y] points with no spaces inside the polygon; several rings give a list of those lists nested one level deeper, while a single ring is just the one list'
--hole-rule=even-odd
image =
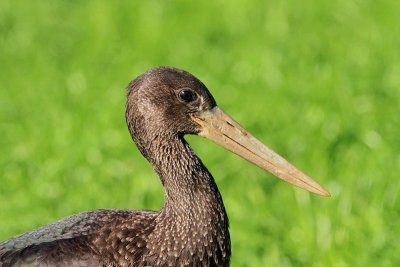
[{"label": "long pale pointed beak of the dark brown bird", "polygon": [[192,115],[192,120],[202,126],[200,136],[212,140],[288,183],[318,195],[330,196],[322,186],[257,140],[219,107]]}]

